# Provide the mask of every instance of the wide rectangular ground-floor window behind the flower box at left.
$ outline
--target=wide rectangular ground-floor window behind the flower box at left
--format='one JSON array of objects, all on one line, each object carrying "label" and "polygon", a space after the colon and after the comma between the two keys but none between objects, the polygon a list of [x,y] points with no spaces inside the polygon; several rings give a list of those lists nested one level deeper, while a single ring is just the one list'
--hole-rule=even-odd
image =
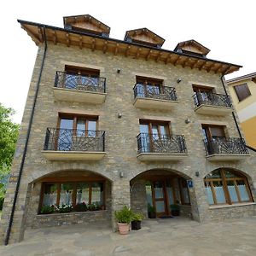
[{"label": "wide rectangular ground-floor window behind the flower box at left", "polygon": [[43,183],[41,206],[87,206],[97,204],[104,207],[104,182],[55,182]]}]

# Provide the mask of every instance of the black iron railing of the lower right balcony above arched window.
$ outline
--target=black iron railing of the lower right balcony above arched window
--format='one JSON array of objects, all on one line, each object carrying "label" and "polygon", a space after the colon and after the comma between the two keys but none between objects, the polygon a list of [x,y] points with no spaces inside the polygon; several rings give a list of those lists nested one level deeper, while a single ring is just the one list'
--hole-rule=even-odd
[{"label": "black iron railing of the lower right balcony above arched window", "polygon": [[246,143],[240,137],[212,137],[205,139],[207,155],[211,154],[249,154]]}]

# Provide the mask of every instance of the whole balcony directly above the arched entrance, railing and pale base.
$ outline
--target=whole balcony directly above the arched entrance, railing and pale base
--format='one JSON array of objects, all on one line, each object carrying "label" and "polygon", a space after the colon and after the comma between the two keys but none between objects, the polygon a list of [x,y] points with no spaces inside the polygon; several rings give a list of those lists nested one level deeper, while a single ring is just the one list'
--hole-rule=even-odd
[{"label": "whole balcony directly above the arched entrance, railing and pale base", "polygon": [[177,161],[187,156],[183,135],[166,136],[140,133],[137,136],[137,159],[141,161]]}]

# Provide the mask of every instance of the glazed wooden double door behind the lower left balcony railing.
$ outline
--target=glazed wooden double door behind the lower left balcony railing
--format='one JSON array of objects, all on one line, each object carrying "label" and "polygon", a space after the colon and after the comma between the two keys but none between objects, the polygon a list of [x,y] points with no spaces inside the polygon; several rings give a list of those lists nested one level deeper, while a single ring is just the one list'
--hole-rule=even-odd
[{"label": "glazed wooden double door behind the lower left balcony railing", "polygon": [[96,118],[61,116],[58,130],[58,150],[69,151],[79,144],[84,146],[85,137],[96,137],[96,126]]}]

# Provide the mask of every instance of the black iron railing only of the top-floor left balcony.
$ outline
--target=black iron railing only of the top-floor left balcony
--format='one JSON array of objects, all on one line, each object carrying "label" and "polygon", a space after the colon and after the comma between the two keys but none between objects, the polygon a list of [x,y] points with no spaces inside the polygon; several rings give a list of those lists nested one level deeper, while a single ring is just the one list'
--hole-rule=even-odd
[{"label": "black iron railing only of the top-floor left balcony", "polygon": [[55,87],[71,90],[106,92],[106,79],[91,78],[79,74],[69,74],[57,71],[55,76]]}]

